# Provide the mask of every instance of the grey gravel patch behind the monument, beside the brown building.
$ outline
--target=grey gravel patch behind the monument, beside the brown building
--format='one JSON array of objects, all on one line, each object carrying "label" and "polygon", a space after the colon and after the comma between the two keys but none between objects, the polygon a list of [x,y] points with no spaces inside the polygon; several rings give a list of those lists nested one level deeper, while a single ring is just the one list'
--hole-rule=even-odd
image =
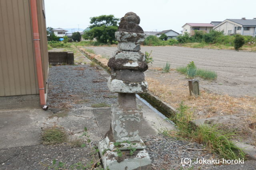
[{"label": "grey gravel patch behind the monument, beside the brown building", "polygon": [[50,107],[78,108],[116,102],[117,94],[108,90],[107,80],[97,67],[79,64],[49,69],[47,105]]}]

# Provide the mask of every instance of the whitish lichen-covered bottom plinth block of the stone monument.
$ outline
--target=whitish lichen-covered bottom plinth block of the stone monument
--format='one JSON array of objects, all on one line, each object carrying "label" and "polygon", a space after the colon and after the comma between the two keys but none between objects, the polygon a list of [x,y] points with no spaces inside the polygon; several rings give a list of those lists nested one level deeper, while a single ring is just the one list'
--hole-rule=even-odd
[{"label": "whitish lichen-covered bottom plinth block of the stone monument", "polygon": [[122,156],[118,156],[117,152],[110,150],[107,140],[99,142],[98,149],[104,169],[110,170],[149,170],[151,160],[145,149],[136,150],[130,156],[129,150],[122,150]]}]

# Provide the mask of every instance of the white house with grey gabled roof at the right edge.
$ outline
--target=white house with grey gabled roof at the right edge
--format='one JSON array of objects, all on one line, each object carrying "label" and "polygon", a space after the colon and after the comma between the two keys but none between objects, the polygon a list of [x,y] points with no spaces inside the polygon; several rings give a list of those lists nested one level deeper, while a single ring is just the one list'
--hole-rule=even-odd
[{"label": "white house with grey gabled roof at the right edge", "polygon": [[256,18],[247,20],[246,18],[242,19],[226,19],[214,26],[213,28],[216,31],[222,31],[224,35],[250,35],[256,36]]}]

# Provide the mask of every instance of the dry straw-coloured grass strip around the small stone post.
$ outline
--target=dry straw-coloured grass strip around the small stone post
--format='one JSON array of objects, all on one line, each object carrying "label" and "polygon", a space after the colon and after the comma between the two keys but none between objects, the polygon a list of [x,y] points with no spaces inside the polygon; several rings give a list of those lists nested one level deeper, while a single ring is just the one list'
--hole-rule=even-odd
[{"label": "dry straw-coloured grass strip around the small stone post", "polygon": [[[176,84],[164,84],[154,78],[146,77],[149,91],[160,97],[164,102],[178,108],[183,101],[189,106],[194,115],[200,118],[238,114],[244,112],[256,113],[255,97],[235,98],[228,95],[219,95],[200,91],[200,96],[190,96],[187,84],[178,82]],[[201,113],[198,115],[198,113]]]}]

